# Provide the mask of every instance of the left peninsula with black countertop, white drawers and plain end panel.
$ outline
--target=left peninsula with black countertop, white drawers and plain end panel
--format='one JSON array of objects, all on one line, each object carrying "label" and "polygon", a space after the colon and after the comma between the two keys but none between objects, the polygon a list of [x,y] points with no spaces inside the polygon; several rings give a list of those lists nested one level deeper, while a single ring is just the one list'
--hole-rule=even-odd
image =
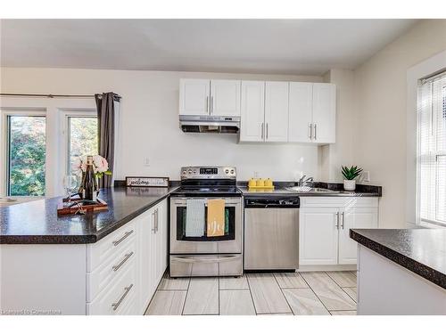
[{"label": "left peninsula with black countertop, white drawers and plain end panel", "polygon": [[107,211],[61,197],[0,208],[0,314],[144,314],[167,267],[174,188],[110,188]]}]

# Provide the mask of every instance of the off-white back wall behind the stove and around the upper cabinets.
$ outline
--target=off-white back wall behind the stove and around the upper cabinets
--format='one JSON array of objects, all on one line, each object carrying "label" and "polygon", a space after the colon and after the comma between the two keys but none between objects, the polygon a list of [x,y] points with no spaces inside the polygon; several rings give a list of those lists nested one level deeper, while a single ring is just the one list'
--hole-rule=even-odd
[{"label": "off-white back wall behind the stove and around the upper cabinets", "polygon": [[[122,154],[116,177],[167,175],[178,179],[188,165],[234,165],[238,179],[293,180],[303,172],[318,178],[318,147],[304,144],[238,144],[233,134],[184,134],[178,127],[181,77],[243,78],[320,82],[322,77],[221,73],[96,70],[1,69],[1,92],[21,94],[120,94]],[[144,167],[144,159],[150,167]]]}]

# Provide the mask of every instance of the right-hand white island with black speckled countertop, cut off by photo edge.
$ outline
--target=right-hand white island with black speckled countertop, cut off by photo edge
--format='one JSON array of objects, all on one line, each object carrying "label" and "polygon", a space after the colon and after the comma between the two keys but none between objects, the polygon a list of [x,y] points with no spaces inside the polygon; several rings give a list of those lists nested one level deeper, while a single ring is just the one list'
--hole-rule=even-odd
[{"label": "right-hand white island with black speckled countertop, cut off by photo edge", "polygon": [[446,314],[446,229],[353,229],[358,314]]}]

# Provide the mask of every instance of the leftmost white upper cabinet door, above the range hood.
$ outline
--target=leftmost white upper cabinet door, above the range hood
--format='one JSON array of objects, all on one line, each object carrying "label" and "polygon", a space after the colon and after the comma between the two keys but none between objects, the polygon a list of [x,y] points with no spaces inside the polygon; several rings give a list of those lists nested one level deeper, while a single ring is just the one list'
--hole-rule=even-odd
[{"label": "leftmost white upper cabinet door, above the range hood", "polygon": [[210,107],[210,80],[179,80],[179,114],[208,115]]}]

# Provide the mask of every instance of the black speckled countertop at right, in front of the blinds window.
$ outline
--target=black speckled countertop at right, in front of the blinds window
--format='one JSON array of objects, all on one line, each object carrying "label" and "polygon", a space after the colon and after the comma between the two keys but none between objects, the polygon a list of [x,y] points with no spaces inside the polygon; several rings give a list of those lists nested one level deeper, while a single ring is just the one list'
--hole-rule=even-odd
[{"label": "black speckled countertop at right, in front of the blinds window", "polygon": [[446,289],[446,229],[353,229],[350,237]]}]

